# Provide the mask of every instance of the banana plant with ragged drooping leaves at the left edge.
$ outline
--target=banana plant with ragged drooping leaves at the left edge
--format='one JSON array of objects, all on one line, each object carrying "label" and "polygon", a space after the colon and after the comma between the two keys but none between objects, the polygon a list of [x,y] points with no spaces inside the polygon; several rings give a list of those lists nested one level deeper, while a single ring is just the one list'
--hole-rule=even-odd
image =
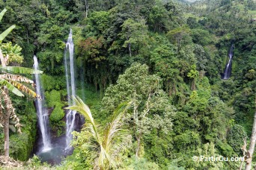
[{"label": "banana plant with ragged drooping leaves at the left edge", "polygon": [[[4,13],[7,10],[4,9],[0,13],[0,21],[4,16]],[[15,25],[10,26],[0,34],[0,45],[2,40],[10,33],[10,31],[15,28]],[[15,95],[24,96],[22,92],[27,93],[28,95],[33,96],[34,98],[40,98],[33,90],[29,89],[26,84],[31,84],[31,86],[35,86],[34,81],[31,81],[28,78],[25,78],[21,75],[16,74],[41,74],[41,71],[28,69],[25,67],[19,66],[7,66],[9,61],[9,56],[6,54],[3,55],[0,48],[0,126],[4,127],[4,156],[9,157],[9,124],[10,119],[13,119],[15,127],[18,128],[18,132],[21,133],[21,125],[19,123],[19,118],[16,116],[15,109],[13,108],[13,104],[10,100],[9,90],[13,92]],[[25,83],[22,84],[22,83]],[[4,107],[3,104],[4,103]]]}]

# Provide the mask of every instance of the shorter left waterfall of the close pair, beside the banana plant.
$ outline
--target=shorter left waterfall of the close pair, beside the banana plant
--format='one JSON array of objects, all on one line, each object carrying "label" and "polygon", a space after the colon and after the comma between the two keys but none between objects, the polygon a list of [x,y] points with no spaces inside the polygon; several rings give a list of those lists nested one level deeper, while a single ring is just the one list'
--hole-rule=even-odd
[{"label": "shorter left waterfall of the close pair, beside the banana plant", "polygon": [[[34,69],[39,69],[37,57],[34,56]],[[35,74],[35,83],[36,92],[38,95],[42,97],[42,100],[39,98],[36,99],[36,108],[37,108],[37,117],[38,117],[38,124],[40,127],[40,132],[42,136],[43,147],[41,148],[41,152],[49,151],[51,149],[51,138],[49,135],[49,116],[48,111],[46,108],[43,107],[45,104],[44,96],[42,92],[42,86],[40,84],[40,75]]]}]

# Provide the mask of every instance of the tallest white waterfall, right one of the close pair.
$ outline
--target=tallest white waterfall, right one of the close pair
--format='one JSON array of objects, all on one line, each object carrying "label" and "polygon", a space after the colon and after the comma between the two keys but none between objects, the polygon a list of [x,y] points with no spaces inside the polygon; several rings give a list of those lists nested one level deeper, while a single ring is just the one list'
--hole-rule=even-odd
[{"label": "tallest white waterfall, right one of the close pair", "polygon": [[[72,39],[72,29],[67,39],[66,48],[64,52],[64,64],[67,81],[67,98],[68,105],[74,104],[71,101],[71,95],[76,95],[76,84],[75,84],[75,70],[74,70],[74,43]],[[70,149],[70,142],[72,140],[72,132],[75,128],[76,111],[68,110],[66,116],[66,150]]]}]

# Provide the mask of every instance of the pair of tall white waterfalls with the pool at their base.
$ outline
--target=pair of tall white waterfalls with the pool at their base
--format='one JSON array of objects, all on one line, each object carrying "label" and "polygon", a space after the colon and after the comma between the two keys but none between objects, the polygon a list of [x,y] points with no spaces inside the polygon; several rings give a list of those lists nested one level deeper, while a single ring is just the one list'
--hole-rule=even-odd
[{"label": "pair of tall white waterfalls with the pool at their base", "polygon": [[[70,29],[70,34],[67,39],[66,48],[64,51],[64,65],[65,65],[65,73],[66,73],[66,81],[67,81],[67,99],[68,99],[68,105],[71,106],[74,104],[71,96],[76,95],[76,84],[75,84],[75,69],[74,69],[74,43],[72,40],[72,30]],[[34,56],[34,69],[39,69],[38,67],[38,61],[37,57]],[[39,98],[36,99],[35,105],[37,109],[37,118],[38,118],[38,127],[40,132],[40,140],[38,142],[38,152],[37,154],[50,154],[52,152],[56,152],[57,150],[60,150],[61,147],[61,153],[70,153],[71,146],[70,142],[72,140],[72,132],[75,129],[75,119],[76,119],[76,111],[73,110],[66,110],[66,135],[63,136],[66,139],[66,143],[64,142],[57,142],[56,141],[64,141],[62,137],[60,139],[52,139],[51,144],[51,135],[49,130],[49,113],[45,105],[44,101],[44,95],[43,95],[43,88],[42,84],[40,83],[40,75],[35,75],[35,83],[36,86],[36,92],[38,95],[42,97],[42,100]],[[63,143],[63,145],[61,145]],[[62,149],[63,148],[63,149]],[[64,154],[61,154],[64,155]],[[46,157],[52,157],[52,156],[46,156]],[[55,156],[53,156],[55,157]],[[53,158],[54,159],[54,158]]]}]

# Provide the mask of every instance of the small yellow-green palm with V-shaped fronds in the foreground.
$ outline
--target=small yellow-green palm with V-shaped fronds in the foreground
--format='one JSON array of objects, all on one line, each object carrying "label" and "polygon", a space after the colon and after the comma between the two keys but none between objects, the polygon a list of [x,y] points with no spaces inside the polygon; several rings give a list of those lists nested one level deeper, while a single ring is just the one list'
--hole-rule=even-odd
[{"label": "small yellow-green palm with V-shaped fronds in the foreground", "polygon": [[75,147],[88,151],[93,158],[94,169],[115,169],[121,165],[121,152],[126,150],[131,143],[131,136],[126,130],[122,130],[124,125],[124,113],[127,112],[132,102],[120,104],[114,112],[114,119],[108,123],[103,132],[94,122],[89,107],[79,98],[75,98],[75,105],[66,109],[76,110],[85,116],[85,127],[82,134],[74,133],[76,139],[73,141]]}]

